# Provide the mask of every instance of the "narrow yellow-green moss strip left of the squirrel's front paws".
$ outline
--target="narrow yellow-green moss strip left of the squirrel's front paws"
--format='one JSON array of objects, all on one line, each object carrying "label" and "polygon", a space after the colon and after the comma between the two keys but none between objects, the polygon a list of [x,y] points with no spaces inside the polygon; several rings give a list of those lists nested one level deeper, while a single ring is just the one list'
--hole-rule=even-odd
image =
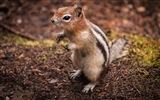
[{"label": "narrow yellow-green moss strip left of the squirrel's front paws", "polygon": [[42,46],[42,47],[51,47],[55,45],[55,42],[53,40],[45,39],[43,41],[33,41],[29,40],[23,37],[20,37],[18,35],[14,34],[0,34],[1,37],[1,44],[21,44],[21,45],[28,45],[28,46]]}]

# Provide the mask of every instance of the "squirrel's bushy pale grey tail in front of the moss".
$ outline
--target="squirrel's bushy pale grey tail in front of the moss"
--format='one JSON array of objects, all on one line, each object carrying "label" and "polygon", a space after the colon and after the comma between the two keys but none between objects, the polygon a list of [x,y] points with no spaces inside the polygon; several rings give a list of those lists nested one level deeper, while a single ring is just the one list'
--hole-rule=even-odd
[{"label": "squirrel's bushy pale grey tail in front of the moss", "polygon": [[110,60],[109,63],[112,61],[126,56],[128,51],[125,50],[127,46],[127,39],[125,37],[119,38],[110,43]]}]

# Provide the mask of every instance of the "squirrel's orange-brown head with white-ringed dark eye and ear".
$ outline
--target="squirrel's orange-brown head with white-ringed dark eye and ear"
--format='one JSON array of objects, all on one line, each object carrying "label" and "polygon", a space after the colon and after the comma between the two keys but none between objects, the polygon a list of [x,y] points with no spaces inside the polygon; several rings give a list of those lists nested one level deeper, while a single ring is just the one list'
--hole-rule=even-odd
[{"label": "squirrel's orange-brown head with white-ringed dark eye and ear", "polygon": [[51,21],[59,27],[72,30],[82,23],[84,18],[82,8],[74,4],[73,6],[59,8],[51,18]]}]

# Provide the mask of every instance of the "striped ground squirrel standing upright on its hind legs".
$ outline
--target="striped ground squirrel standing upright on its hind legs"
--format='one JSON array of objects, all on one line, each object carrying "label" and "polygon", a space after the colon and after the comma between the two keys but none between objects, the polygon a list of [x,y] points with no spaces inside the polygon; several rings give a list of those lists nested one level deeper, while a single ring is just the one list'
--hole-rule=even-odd
[{"label": "striped ground squirrel standing upright on its hind legs", "polygon": [[118,39],[109,46],[109,41],[102,30],[86,19],[82,7],[77,4],[59,8],[51,21],[64,29],[64,32],[56,36],[57,43],[65,37],[70,41],[66,48],[73,51],[71,60],[73,66],[78,68],[70,78],[75,79],[83,72],[90,83],[82,92],[93,91],[104,68],[116,58],[125,55],[123,47],[126,40]]}]

